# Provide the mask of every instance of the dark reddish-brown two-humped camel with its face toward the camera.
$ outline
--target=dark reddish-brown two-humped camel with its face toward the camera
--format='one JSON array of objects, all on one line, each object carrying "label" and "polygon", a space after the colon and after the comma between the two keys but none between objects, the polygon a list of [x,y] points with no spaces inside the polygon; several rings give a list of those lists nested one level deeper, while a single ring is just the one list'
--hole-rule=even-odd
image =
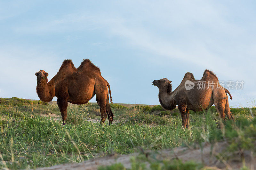
[{"label": "dark reddish-brown two-humped camel with its face toward the camera", "polygon": [[68,102],[72,104],[85,104],[94,95],[100,106],[101,124],[108,116],[109,124],[113,122],[113,113],[110,108],[112,102],[110,86],[100,73],[99,67],[90,60],[84,60],[76,69],[71,60],[64,60],[58,73],[48,82],[48,73],[40,70],[36,73],[37,86],[36,93],[44,102],[52,101],[57,97],[63,125],[66,124]]}]

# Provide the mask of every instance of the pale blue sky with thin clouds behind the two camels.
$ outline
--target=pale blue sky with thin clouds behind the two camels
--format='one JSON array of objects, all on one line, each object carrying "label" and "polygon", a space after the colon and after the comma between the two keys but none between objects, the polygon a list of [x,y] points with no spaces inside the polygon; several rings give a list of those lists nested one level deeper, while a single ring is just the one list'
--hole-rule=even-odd
[{"label": "pale blue sky with thin clouds behind the two camels", "polygon": [[[204,69],[236,107],[255,100],[255,1],[0,1],[0,97],[38,99],[35,72],[50,80],[64,59],[100,67],[114,103],[159,104],[152,81],[176,88]],[[55,98],[56,100],[56,98]],[[95,97],[91,102],[95,102]]]}]

